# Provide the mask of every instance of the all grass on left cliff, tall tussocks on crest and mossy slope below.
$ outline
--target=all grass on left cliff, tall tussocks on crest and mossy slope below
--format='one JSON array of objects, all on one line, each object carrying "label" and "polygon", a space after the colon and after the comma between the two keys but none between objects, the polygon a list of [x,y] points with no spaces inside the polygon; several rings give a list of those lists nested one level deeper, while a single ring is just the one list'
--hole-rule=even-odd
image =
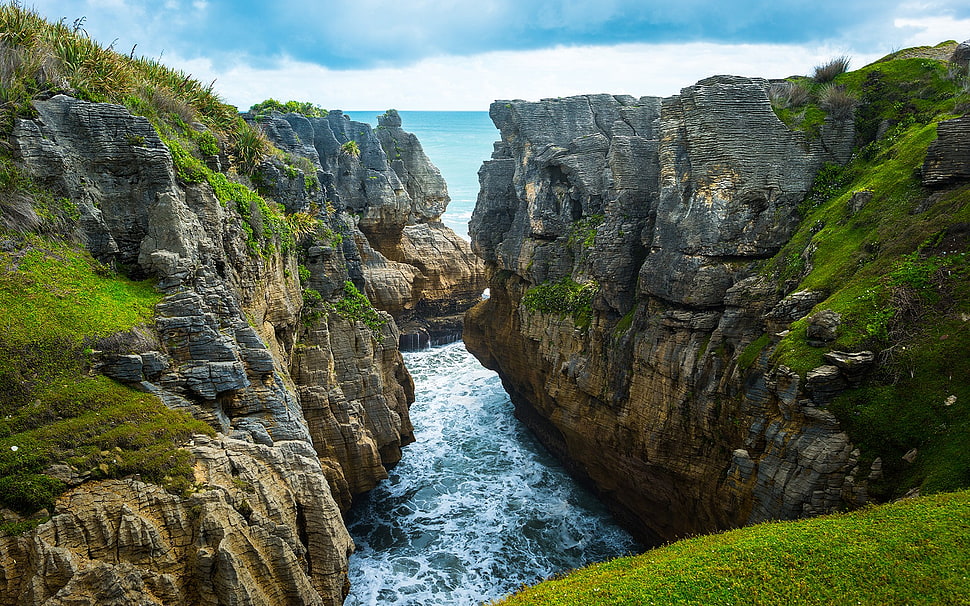
[{"label": "all grass on left cliff, tall tussocks on crest and mossy slope below", "polygon": [[[83,30],[49,23],[20,6],[0,5],[0,71],[0,135],[17,117],[33,114],[31,99],[66,92],[147,116],[168,141],[187,150],[180,175],[191,164],[189,154],[197,158],[224,148],[236,166],[250,168],[268,151],[265,139],[211,86],[157,61],[104,49]],[[188,126],[192,122],[207,130]],[[266,212],[255,193],[221,185],[224,203]],[[66,488],[45,473],[58,463],[85,478],[140,474],[185,489],[192,471],[179,445],[212,429],[88,368],[92,349],[125,353],[132,343],[150,342],[161,295],[72,242],[76,207],[23,174],[0,145],[0,213],[15,218],[25,206],[40,219],[36,233],[17,229],[16,219],[0,230],[0,507],[25,515],[50,507]],[[260,246],[254,252],[268,250],[267,241],[277,236],[255,234]],[[39,521],[0,524],[0,532],[23,531]]]}]

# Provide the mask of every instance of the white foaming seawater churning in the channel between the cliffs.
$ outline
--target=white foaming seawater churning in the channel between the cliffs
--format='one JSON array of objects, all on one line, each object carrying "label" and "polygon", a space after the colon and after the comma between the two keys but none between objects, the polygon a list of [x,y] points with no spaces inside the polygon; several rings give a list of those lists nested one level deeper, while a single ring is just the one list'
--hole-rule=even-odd
[{"label": "white foaming seawater churning in the channel between the cliffs", "polygon": [[417,442],[354,505],[346,606],[480,604],[636,549],[462,343],[404,357]]}]

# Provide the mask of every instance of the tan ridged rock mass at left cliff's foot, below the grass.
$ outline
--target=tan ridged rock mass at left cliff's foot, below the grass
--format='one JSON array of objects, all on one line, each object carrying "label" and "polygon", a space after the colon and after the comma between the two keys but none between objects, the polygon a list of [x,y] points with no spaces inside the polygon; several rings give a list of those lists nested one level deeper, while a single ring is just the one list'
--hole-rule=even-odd
[{"label": "tan ridged rock mass at left cliff's foot, below the grass", "polygon": [[179,497],[136,479],[58,499],[58,515],[0,538],[0,604],[343,603],[353,550],[312,448],[196,438]]}]

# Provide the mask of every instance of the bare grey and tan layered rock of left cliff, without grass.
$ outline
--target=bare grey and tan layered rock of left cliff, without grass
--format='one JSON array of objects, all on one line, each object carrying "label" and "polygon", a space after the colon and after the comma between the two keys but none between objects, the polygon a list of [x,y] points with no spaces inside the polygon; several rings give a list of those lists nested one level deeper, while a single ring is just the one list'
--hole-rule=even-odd
[{"label": "bare grey and tan layered rock of left cliff, without grass", "polygon": [[[208,183],[177,178],[146,119],[66,96],[35,106],[11,139],[27,171],[77,204],[76,236],[95,257],[157,278],[165,293],[154,325],[117,335],[121,346],[95,352],[94,370],[205,420],[218,437],[188,446],[188,496],[137,478],[69,478],[75,487],[50,522],[0,539],[0,604],[342,603],[353,546],[341,510],[387,477],[413,440],[414,386],[393,319],[379,312],[368,323],[334,306],[352,294],[348,281],[396,311],[473,290],[463,280],[474,282],[474,271],[456,277],[449,265],[467,245],[436,223],[447,198],[440,177],[401,137],[411,150],[399,161],[405,185],[373,133],[339,113],[313,124],[274,117],[266,126],[275,140],[310,159],[323,186],[269,161],[264,191],[291,211],[309,211],[313,191],[332,201],[317,217],[332,237],[306,245],[301,280],[295,251],[254,240],[257,218]],[[338,151],[352,138],[360,158]],[[399,259],[371,241],[393,244]],[[407,265],[395,275],[424,280],[430,294],[402,294],[380,277],[381,263],[404,266],[408,255],[449,246],[455,254],[438,274]]]}]

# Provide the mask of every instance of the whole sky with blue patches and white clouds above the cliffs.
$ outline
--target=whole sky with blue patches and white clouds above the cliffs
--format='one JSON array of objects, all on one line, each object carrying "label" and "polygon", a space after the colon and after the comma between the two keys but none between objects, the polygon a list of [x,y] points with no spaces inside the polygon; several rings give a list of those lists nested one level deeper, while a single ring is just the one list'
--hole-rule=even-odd
[{"label": "whole sky with blue patches and white clouds above the cliffs", "polygon": [[[248,108],[475,109],[495,99],[670,95],[713,74],[861,67],[970,38],[966,0],[25,0]],[[137,45],[137,46],[136,46]]]}]

